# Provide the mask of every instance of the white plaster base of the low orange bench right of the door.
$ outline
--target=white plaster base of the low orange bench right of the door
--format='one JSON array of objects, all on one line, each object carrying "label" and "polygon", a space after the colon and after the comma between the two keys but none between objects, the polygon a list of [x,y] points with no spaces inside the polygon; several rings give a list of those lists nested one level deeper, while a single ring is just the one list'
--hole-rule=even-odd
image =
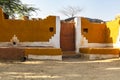
[{"label": "white plaster base of the low orange bench right of the door", "polygon": [[103,54],[84,54],[84,57],[90,60],[99,60],[99,59],[110,59],[110,58],[119,58],[119,55],[103,55]]}]

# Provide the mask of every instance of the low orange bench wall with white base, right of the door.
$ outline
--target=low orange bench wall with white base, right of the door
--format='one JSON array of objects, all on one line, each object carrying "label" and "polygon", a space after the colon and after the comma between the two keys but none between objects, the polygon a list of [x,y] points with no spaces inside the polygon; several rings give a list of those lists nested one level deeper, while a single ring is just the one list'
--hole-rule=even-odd
[{"label": "low orange bench wall with white base, right of the door", "polygon": [[80,48],[80,53],[91,60],[119,58],[119,48]]}]

